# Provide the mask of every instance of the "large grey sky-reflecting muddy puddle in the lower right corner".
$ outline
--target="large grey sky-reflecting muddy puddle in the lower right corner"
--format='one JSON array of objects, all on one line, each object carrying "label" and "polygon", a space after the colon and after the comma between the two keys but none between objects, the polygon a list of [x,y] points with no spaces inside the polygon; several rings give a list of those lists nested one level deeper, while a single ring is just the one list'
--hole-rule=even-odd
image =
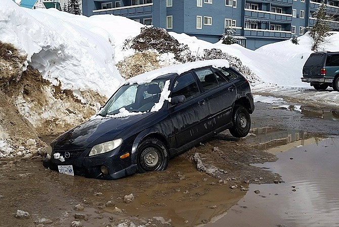
[{"label": "large grey sky-reflecting muddy puddle in the lower right corner", "polygon": [[251,184],[237,205],[206,226],[339,226],[339,138],[308,142],[279,152],[277,162],[256,165],[284,183]]}]

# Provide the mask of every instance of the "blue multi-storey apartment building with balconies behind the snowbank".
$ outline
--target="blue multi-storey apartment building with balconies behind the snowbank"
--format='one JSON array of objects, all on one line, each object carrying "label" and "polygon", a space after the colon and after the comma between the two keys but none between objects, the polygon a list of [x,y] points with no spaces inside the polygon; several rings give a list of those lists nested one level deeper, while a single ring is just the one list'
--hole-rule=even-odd
[{"label": "blue multi-storey apartment building with balconies behind the snowbank", "polygon": [[[339,0],[328,4],[330,26],[339,30]],[[302,35],[315,23],[321,0],[82,0],[85,16],[112,14],[217,42],[227,29],[249,49]]]}]

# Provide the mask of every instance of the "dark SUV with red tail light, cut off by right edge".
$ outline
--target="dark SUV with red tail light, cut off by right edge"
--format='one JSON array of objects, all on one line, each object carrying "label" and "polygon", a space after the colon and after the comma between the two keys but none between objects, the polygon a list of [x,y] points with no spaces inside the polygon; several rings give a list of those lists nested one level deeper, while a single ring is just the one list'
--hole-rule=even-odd
[{"label": "dark SUV with red tail light, cut off by right edge", "polygon": [[339,91],[339,52],[312,53],[304,65],[301,79],[317,90],[332,87]]}]

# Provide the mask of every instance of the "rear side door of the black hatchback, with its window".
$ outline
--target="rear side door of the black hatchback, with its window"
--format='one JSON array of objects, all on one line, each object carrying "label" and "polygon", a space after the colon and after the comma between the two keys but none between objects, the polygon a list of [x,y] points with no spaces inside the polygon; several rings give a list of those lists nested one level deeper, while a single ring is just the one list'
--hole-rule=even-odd
[{"label": "rear side door of the black hatchback, with its window", "polygon": [[207,67],[194,72],[208,99],[214,129],[224,127],[232,118],[232,105],[236,99],[234,84],[214,68]]}]

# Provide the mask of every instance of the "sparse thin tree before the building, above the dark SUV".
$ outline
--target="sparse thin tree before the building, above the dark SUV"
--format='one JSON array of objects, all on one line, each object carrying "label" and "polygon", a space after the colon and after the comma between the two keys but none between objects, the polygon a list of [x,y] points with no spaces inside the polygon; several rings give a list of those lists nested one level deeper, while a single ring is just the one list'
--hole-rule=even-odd
[{"label": "sparse thin tree before the building, above the dark SUV", "polygon": [[314,26],[310,30],[310,36],[313,38],[312,50],[318,50],[319,45],[324,42],[329,33],[329,18],[326,15],[326,5],[323,2],[318,10],[314,13],[317,19]]}]

